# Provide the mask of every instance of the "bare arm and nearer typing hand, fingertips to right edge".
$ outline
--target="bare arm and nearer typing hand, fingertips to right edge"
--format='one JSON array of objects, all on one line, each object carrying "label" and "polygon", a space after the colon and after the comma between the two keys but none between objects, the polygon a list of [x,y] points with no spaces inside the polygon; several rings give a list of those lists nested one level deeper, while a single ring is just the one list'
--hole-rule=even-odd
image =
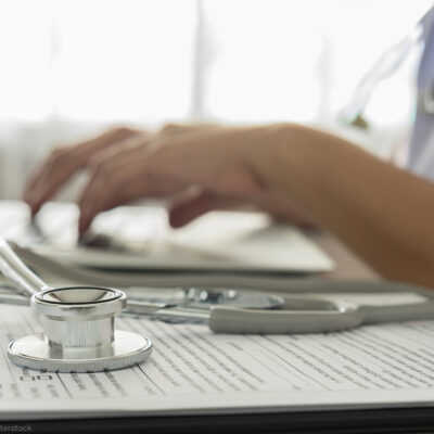
[{"label": "bare arm and nearer typing hand, fingertips to right edge", "polygon": [[[250,204],[302,210],[384,277],[434,288],[434,184],[341,138],[285,124],[139,136],[89,163],[79,229],[140,197],[169,197],[179,227],[207,210]],[[43,202],[49,186],[27,199]]]}]

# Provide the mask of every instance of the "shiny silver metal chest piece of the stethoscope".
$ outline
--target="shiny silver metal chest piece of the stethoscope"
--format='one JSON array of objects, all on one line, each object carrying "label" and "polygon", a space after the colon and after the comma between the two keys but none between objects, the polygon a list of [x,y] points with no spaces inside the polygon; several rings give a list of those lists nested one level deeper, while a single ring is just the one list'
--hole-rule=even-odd
[{"label": "shiny silver metal chest piece of the stethoscope", "polygon": [[90,372],[126,368],[143,361],[151,341],[114,328],[126,306],[122,291],[62,288],[40,291],[30,306],[40,315],[43,333],[12,341],[8,356],[17,366],[51,372]]}]

